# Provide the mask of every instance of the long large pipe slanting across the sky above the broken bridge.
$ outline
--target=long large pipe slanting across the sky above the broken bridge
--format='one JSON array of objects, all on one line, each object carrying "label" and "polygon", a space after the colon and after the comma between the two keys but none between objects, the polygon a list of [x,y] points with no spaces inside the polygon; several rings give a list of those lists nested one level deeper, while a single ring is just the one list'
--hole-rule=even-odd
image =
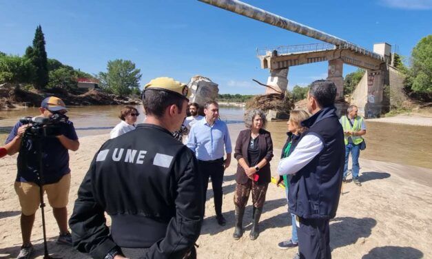
[{"label": "long large pipe slanting across the sky above the broken bridge", "polygon": [[320,41],[331,43],[333,45],[336,45],[337,48],[347,48],[349,50],[353,50],[368,56],[372,56],[373,58],[378,59],[380,61],[384,61],[384,57],[381,56],[380,54],[371,52],[365,48],[362,48],[358,45],[340,39],[331,34],[327,34],[325,32],[321,32],[320,30],[311,28],[309,26],[302,25],[301,23],[297,23],[296,21],[291,21],[284,17],[280,17],[277,14],[273,14],[263,9],[256,8],[255,6],[251,6],[247,3],[243,3],[242,1],[237,1],[237,0],[198,0],[198,1],[201,1],[203,3],[208,3],[209,5],[216,6],[218,8],[222,8],[230,12],[235,12],[236,14],[241,14],[251,19],[262,21],[263,23],[269,23],[279,28],[289,30],[291,32],[297,32],[298,34],[303,34],[313,39],[318,39]]}]

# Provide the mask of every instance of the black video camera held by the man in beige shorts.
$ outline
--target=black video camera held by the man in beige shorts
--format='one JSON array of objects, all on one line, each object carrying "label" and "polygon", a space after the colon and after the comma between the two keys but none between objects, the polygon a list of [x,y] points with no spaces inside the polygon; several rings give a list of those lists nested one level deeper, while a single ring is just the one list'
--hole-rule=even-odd
[{"label": "black video camera held by the man in beige shorts", "polygon": [[66,123],[68,120],[65,114],[54,114],[49,118],[27,116],[19,121],[23,124],[31,124],[31,127],[25,130],[25,137],[52,137],[61,135],[61,123]]}]

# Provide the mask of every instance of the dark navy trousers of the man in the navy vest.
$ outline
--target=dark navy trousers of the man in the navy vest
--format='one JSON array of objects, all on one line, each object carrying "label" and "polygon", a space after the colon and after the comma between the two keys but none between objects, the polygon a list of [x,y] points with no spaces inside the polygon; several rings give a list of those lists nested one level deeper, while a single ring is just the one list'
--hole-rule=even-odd
[{"label": "dark navy trousers of the man in the navy vest", "polygon": [[297,236],[300,258],[331,259],[329,220],[300,218]]}]

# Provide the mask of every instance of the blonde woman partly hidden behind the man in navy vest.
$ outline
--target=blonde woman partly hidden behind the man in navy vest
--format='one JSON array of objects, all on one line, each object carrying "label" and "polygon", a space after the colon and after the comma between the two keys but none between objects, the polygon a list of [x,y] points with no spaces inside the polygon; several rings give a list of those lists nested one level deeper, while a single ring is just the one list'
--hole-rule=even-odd
[{"label": "blonde woman partly hidden behind the man in navy vest", "polygon": [[[307,118],[309,118],[309,114],[305,110],[292,110],[289,113],[289,121],[287,122],[288,126],[288,138],[287,142],[282,148],[282,154],[280,156],[280,159],[286,158],[289,156],[294,149],[296,148],[296,145],[298,144],[298,141],[300,141],[300,134],[305,132],[307,130],[307,127],[303,127],[301,125],[302,121],[305,121]],[[288,202],[288,188],[289,188],[289,176],[279,176],[279,180],[277,185],[280,183],[284,183],[285,185],[285,194],[287,195],[287,202]],[[289,209],[288,209],[289,212]],[[296,216],[294,214],[291,214],[291,225],[292,225],[292,233],[291,238],[289,240],[282,241],[278,243],[279,249],[285,250],[289,249],[291,247],[297,247],[298,246],[298,237],[297,237],[297,229],[296,229]]]}]

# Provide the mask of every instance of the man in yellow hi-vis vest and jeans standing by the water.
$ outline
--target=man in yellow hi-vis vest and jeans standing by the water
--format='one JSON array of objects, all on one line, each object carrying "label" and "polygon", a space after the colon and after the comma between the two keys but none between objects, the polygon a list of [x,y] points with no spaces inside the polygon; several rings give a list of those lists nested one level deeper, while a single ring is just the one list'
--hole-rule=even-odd
[{"label": "man in yellow hi-vis vest and jeans standing by the water", "polygon": [[348,115],[340,117],[339,120],[344,128],[345,138],[345,167],[342,181],[345,182],[347,178],[348,158],[351,152],[351,158],[353,160],[353,168],[351,170],[353,182],[358,186],[362,186],[358,180],[358,172],[360,171],[358,157],[360,156],[360,144],[364,141],[362,136],[366,134],[366,125],[364,125],[363,118],[358,116],[357,113],[358,107],[356,105],[349,105]]}]

